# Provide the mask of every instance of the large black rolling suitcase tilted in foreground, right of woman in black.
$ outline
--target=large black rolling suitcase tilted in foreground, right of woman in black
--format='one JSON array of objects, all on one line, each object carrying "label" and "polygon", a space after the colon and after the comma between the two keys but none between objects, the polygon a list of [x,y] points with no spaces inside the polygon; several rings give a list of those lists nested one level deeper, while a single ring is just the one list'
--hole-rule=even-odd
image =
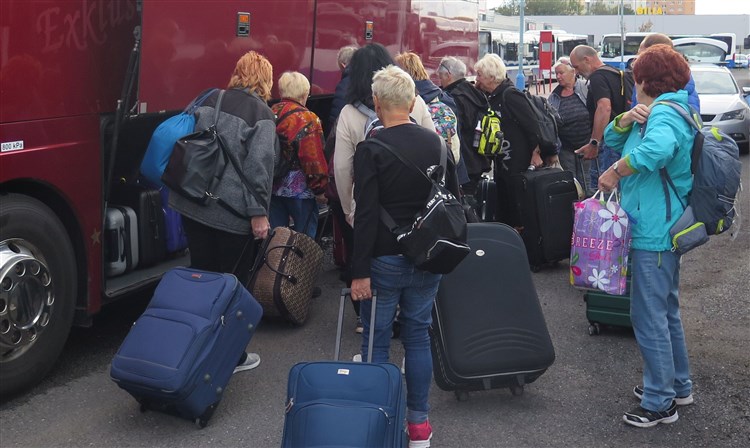
[{"label": "large black rolling suitcase tilted in foreground, right of woman in black", "polygon": [[518,395],[555,360],[526,249],[500,223],[468,224],[467,242],[471,253],[443,275],[435,299],[435,382],[459,400],[504,387]]}]

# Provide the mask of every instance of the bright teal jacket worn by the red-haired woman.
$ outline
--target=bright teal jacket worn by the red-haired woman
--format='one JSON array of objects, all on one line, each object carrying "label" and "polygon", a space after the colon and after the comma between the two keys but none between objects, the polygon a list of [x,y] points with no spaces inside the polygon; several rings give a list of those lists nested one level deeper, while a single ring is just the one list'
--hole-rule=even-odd
[{"label": "bright teal jacket worn by the red-haired woman", "polygon": [[656,104],[660,100],[675,101],[688,110],[685,90],[668,92],[654,101],[643,136],[642,126],[638,123],[620,128],[620,116],[604,131],[607,145],[620,152],[635,172],[620,181],[622,207],[633,222],[632,247],[655,252],[672,248],[669,229],[683,212],[674,191],[668,188],[672,216],[667,220],[667,203],[659,169],[666,167],[679,199],[687,205],[688,193],[693,187],[690,153],[695,135],[677,111],[668,105]]}]

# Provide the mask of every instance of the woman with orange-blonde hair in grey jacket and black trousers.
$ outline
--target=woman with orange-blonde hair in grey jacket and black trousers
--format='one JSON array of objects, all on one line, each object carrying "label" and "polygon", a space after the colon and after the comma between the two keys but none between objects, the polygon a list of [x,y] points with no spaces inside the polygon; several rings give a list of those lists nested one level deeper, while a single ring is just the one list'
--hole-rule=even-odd
[{"label": "woman with orange-blonde hair in grey jacket and black trousers", "polygon": [[[216,91],[195,112],[195,129],[207,129],[213,125],[215,114],[219,114],[219,136],[242,171],[238,173],[227,165],[214,190],[215,199],[205,205],[174,192],[169,195],[169,205],[182,215],[191,267],[195,269],[232,272],[250,235],[268,236],[274,160],[279,153],[275,117],[266,104],[272,87],[271,63],[250,51],[237,61],[220,107],[217,108],[220,92]],[[243,353],[234,372],[259,364],[260,356]]]}]

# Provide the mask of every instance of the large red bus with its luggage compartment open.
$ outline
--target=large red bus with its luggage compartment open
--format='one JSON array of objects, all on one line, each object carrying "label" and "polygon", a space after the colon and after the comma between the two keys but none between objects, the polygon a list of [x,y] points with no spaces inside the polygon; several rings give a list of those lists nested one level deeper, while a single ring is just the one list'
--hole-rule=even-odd
[{"label": "large red bus with its luggage compartment open", "polygon": [[477,2],[3,0],[0,3],[0,394],[38,382],[72,325],[189,256],[106,277],[104,213],[152,131],[248,50],[311,81],[328,116],[340,47],[477,59]]}]

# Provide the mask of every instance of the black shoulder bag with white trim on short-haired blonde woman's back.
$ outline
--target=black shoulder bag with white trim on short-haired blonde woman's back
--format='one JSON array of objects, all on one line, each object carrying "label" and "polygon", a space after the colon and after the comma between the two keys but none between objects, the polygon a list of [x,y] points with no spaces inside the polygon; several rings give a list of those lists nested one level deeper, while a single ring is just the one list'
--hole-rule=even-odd
[{"label": "black shoulder bag with white trim on short-haired blonde woman's back", "polygon": [[427,174],[399,154],[398,150],[377,137],[370,141],[387,149],[402,163],[411,166],[427,179],[432,188],[414,222],[399,228],[393,217],[381,206],[380,219],[394,234],[404,255],[414,265],[434,274],[447,274],[470,251],[466,244],[466,216],[461,202],[445,188],[448,148],[440,139],[440,165],[428,168]]}]

